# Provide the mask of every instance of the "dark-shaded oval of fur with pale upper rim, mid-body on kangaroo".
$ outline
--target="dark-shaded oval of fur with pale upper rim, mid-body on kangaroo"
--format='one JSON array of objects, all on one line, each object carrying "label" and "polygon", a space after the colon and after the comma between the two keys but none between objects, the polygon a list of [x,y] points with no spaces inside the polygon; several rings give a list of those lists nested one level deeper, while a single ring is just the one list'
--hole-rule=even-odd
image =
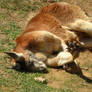
[{"label": "dark-shaded oval of fur with pale upper rim, mid-body on kangaroo", "polygon": [[28,48],[33,52],[51,54],[62,49],[61,39],[48,31],[30,32],[30,37]]}]

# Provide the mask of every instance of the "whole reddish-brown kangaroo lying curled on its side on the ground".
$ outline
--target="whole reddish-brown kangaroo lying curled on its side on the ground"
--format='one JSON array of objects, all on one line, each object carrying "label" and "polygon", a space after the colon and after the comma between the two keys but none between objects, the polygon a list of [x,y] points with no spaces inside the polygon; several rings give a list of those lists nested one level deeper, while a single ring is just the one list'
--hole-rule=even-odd
[{"label": "whole reddish-brown kangaroo lying curled on its side on the ground", "polygon": [[[75,59],[67,49],[67,42],[78,41],[83,37],[79,37],[75,31],[92,36],[91,25],[78,6],[52,4],[44,7],[28,22],[22,35],[16,39],[14,52],[7,54],[13,57],[16,65],[31,71],[45,71],[47,66],[65,65]],[[85,43],[81,45],[87,47]],[[58,54],[53,57],[55,52]]]}]

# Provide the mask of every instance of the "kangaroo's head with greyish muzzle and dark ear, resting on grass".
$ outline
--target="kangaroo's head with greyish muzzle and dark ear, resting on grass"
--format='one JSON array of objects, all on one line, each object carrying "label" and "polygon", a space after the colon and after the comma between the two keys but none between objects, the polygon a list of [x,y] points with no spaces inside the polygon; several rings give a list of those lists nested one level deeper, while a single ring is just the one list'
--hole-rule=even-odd
[{"label": "kangaroo's head with greyish muzzle and dark ear, resting on grass", "polygon": [[32,72],[47,72],[47,66],[38,60],[33,53],[26,58],[23,53],[5,52],[15,61],[15,69],[24,69]]}]

